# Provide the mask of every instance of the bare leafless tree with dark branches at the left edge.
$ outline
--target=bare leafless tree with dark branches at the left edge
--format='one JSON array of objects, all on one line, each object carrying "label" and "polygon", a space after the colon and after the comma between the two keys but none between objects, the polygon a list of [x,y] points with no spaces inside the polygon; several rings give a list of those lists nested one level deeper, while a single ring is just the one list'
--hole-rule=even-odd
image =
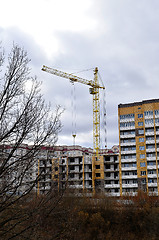
[{"label": "bare leafless tree with dark branches at the left edge", "polygon": [[0,238],[13,239],[30,228],[27,225],[15,230],[35,212],[22,214],[19,208],[40,177],[35,174],[27,183],[27,174],[35,170],[41,146],[56,143],[61,108],[51,113],[40,93],[41,83],[30,76],[30,60],[24,49],[13,44],[8,60],[0,50]]}]

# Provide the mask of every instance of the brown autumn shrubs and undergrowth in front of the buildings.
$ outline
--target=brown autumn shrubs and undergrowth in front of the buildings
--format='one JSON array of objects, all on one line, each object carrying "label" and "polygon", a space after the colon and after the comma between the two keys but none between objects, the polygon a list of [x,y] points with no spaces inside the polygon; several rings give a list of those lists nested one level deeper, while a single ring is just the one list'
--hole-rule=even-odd
[{"label": "brown autumn shrubs and undergrowth in front of the buildings", "polygon": [[[8,215],[15,211],[15,220],[6,223],[5,236],[3,238],[3,229],[0,236],[1,239],[18,240],[157,240],[158,204],[158,197],[144,193],[120,199],[54,193],[49,200],[48,197],[47,200],[46,197],[35,197],[6,210]],[[17,219],[21,223],[12,231],[11,225]],[[8,233],[7,228],[10,229]]]}]

